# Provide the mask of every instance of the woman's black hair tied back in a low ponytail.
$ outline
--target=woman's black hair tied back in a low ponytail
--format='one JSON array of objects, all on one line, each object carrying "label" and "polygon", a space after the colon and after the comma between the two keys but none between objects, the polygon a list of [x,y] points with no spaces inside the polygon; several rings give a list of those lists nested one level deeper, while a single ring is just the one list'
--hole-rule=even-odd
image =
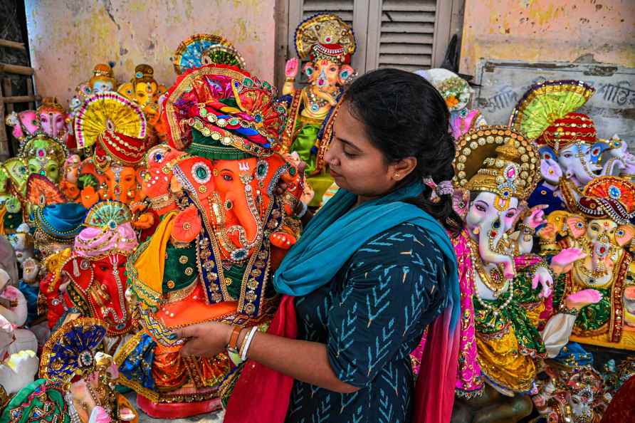
[{"label": "woman's black hair tied back in a low ponytail", "polygon": [[[416,158],[416,168],[400,187],[431,177],[437,184],[454,176],[454,139],[448,132],[450,112],[444,98],[425,78],[399,69],[378,69],[347,86],[344,104],[364,124],[372,144],[388,163]],[[409,199],[448,231],[457,235],[463,221],[452,208],[452,197],[430,199],[426,186],[420,197]]]}]

